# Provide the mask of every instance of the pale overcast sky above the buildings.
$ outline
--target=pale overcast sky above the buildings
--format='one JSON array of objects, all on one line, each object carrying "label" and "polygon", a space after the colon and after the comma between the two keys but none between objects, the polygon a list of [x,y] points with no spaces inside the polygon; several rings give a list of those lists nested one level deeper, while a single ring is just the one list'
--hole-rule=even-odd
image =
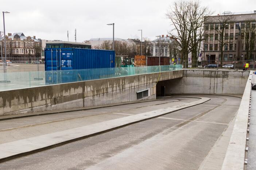
[{"label": "pale overcast sky above the buildings", "polygon": [[[77,42],[91,38],[115,37],[121,39],[143,37],[151,40],[156,35],[166,35],[170,22],[166,19],[167,9],[174,0],[1,0],[5,14],[6,33],[23,32],[25,36],[36,36],[46,40]],[[201,0],[214,14],[224,11],[244,12],[256,10],[256,0]],[[3,31],[3,17],[0,17]]]}]

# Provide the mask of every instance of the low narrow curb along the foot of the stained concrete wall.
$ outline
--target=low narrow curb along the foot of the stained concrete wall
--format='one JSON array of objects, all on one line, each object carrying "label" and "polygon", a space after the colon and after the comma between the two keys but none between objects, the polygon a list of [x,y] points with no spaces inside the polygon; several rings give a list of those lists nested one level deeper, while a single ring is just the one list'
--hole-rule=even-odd
[{"label": "low narrow curb along the foot of the stained concrete wall", "polygon": [[28,113],[28,114],[23,113],[23,114],[5,115],[5,116],[0,116],[0,121],[11,120],[11,119],[19,119],[19,118],[24,118],[24,117],[43,116],[43,115],[48,115],[48,114],[75,112],[75,111],[81,111],[81,110],[108,108],[108,107],[113,107],[113,106],[129,105],[129,104],[135,104],[135,103],[144,103],[144,102],[150,102],[150,101],[156,101],[156,100],[135,101],[135,102],[120,103],[120,104],[101,105],[101,106],[94,106],[94,107],[90,106],[90,107],[85,107],[85,108],[74,108],[74,109],[65,109],[65,110],[54,110],[54,111],[49,110],[49,111],[35,112],[35,113]]}]

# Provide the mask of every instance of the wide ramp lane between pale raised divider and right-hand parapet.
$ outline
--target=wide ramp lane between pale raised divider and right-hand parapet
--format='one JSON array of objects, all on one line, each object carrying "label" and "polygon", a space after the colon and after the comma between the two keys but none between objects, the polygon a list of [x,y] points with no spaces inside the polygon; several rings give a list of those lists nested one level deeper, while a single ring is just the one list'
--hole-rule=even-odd
[{"label": "wide ramp lane between pale raised divider and right-hand parapet", "polygon": [[[220,147],[216,150],[213,146],[219,144],[222,150],[227,149],[226,138],[231,135],[232,130],[226,129],[228,126],[232,129],[232,124],[229,123],[232,116],[231,113],[228,116],[219,114],[220,110],[216,109],[226,106],[230,98],[234,103],[239,103],[241,99],[221,96],[218,102],[217,98],[220,96],[207,97],[215,99],[207,104],[12,159],[0,163],[0,169],[193,170],[209,165],[209,161],[216,163],[216,169],[221,169],[222,162],[218,159],[221,154],[212,154],[213,150],[218,151]],[[232,112],[231,108],[227,109]],[[233,117],[235,113],[234,109]],[[223,117],[223,120],[216,119],[213,114],[218,114],[216,117]],[[204,117],[207,121],[199,120]],[[207,155],[211,157],[205,161]]]}]

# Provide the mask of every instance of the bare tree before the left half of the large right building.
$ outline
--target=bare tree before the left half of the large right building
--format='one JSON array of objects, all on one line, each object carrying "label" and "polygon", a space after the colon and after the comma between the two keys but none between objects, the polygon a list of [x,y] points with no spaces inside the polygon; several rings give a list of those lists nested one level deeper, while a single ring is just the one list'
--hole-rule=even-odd
[{"label": "bare tree before the left half of the large right building", "polygon": [[[222,64],[222,60],[224,59],[223,47],[225,45],[228,46],[228,44],[233,41],[233,39],[230,40],[230,36],[228,36],[228,33],[226,33],[226,29],[228,30],[229,24],[231,21],[234,21],[234,16],[232,15],[220,15],[217,17],[217,20],[216,20],[216,23],[218,23],[218,28],[215,29],[215,32],[217,32],[218,38],[215,40],[217,40],[220,44],[221,64]],[[215,28],[216,28],[216,25],[215,25]]]}]

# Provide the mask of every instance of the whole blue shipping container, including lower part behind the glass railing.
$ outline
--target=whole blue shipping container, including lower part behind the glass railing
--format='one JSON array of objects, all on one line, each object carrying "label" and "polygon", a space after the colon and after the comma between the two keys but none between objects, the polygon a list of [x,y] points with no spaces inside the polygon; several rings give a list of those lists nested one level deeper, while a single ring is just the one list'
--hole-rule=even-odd
[{"label": "whole blue shipping container, including lower part behind the glass railing", "polygon": [[[47,84],[58,84],[65,82],[98,79],[100,78],[100,76],[98,76],[96,73],[92,73],[89,74],[90,76],[86,76],[86,74],[82,74],[82,72],[85,71],[77,69],[115,67],[115,51],[112,50],[96,50],[82,48],[46,48],[44,50],[44,54],[45,70],[54,71],[46,72]],[[57,72],[56,70],[62,70],[62,72]],[[73,70],[77,71],[74,72]],[[89,72],[90,70],[86,70],[86,73]],[[91,72],[95,72],[95,70],[91,70]],[[101,70],[98,70],[98,72],[101,72]],[[102,74],[103,73],[99,75]]]}]

